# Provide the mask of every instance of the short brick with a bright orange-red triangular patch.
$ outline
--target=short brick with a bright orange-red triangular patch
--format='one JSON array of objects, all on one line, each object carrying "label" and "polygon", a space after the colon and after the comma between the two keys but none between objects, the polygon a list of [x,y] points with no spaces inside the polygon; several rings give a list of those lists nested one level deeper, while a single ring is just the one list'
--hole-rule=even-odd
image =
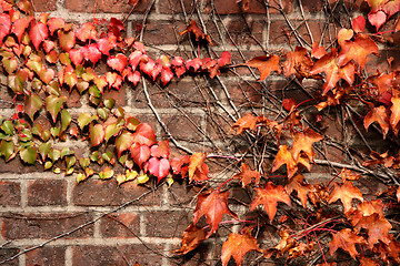
[{"label": "short brick with a bright orange-red triangular patch", "polygon": [[110,214],[101,219],[101,235],[104,237],[136,237],[140,233],[139,222],[138,214]]}]

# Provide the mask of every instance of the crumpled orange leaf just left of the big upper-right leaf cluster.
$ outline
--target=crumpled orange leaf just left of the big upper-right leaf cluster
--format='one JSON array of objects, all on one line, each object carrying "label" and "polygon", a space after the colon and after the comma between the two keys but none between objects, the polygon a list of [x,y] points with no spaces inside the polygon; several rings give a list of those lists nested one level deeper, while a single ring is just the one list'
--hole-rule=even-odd
[{"label": "crumpled orange leaf just left of the big upper-right leaf cluster", "polygon": [[288,52],[286,58],[287,61],[283,62],[283,74],[287,78],[291,74],[298,74],[298,70],[306,73],[310,72],[313,64],[307,49],[302,47],[297,47],[294,52]]}]

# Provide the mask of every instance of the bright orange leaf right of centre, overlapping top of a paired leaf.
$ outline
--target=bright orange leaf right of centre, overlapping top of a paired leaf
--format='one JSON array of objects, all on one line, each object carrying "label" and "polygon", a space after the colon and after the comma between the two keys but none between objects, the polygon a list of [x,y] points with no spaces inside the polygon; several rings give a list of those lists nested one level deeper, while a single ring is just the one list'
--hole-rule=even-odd
[{"label": "bright orange leaf right of centre, overlapping top of a paired leaf", "polygon": [[293,145],[290,150],[294,161],[299,158],[301,151],[304,152],[307,156],[312,161],[316,156],[316,153],[312,150],[312,143],[322,140],[323,137],[310,127],[307,127],[306,130],[303,130],[303,132],[294,132]]}]

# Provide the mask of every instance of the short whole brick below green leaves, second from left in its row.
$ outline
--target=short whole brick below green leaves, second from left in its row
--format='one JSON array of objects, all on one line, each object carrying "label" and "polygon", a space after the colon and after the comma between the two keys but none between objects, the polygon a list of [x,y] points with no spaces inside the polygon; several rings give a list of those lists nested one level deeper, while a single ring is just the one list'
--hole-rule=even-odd
[{"label": "short whole brick below green leaves, second from left in its row", "polygon": [[29,183],[28,205],[49,206],[67,204],[67,182],[61,180],[38,180]]}]

